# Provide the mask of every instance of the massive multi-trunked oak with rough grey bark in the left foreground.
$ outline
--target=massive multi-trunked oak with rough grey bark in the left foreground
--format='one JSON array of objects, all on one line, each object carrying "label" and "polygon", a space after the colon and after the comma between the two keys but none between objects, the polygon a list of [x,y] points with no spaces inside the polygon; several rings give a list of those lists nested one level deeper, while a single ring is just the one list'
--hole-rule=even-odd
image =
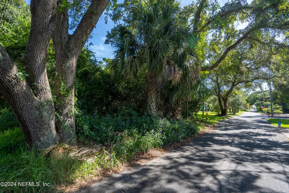
[{"label": "massive multi-trunked oak with rough grey bark in the left foreground", "polygon": [[[76,61],[109,0],[92,0],[73,35],[68,34],[67,10],[57,13],[61,3],[57,0],[31,1],[31,30],[22,57],[25,71],[30,73],[26,80],[25,77],[17,78],[18,68],[0,45],[1,93],[14,112],[27,145],[36,149],[47,148],[56,141],[75,144],[73,109]],[[53,45],[57,72],[55,106],[46,72],[52,33],[55,34]]]}]

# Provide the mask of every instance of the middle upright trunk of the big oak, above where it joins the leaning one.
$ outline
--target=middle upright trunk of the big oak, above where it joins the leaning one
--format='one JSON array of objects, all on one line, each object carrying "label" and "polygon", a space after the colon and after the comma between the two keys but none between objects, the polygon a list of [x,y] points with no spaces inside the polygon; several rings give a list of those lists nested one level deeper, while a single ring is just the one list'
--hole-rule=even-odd
[{"label": "middle upright trunk of the big oak, above where it joins the leaning one", "polygon": [[25,53],[21,58],[26,67],[25,71],[29,73],[27,82],[29,82],[35,95],[42,100],[52,100],[46,72],[46,58],[56,24],[56,2],[56,0],[31,1],[30,36]]}]

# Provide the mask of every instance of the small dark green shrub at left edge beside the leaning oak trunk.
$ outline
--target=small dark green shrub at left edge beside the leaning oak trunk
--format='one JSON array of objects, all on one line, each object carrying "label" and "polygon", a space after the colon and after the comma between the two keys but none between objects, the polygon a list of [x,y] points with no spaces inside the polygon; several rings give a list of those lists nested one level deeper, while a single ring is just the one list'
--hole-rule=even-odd
[{"label": "small dark green shrub at left edge beside the leaning oak trunk", "polygon": [[18,122],[10,108],[0,109],[0,131],[17,126]]}]

